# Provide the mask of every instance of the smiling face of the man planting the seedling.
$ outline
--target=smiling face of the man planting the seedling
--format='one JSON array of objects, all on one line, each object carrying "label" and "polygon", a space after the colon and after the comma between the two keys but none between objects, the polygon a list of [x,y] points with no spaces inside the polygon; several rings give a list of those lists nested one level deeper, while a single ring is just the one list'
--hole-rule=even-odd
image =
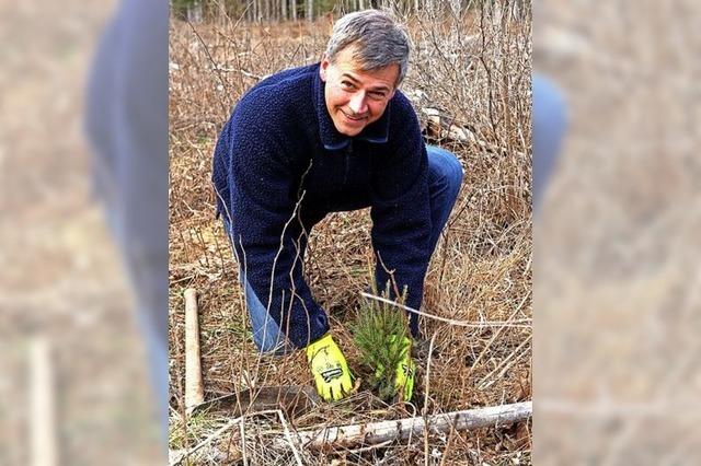
[{"label": "smiling face of the man planting the seedling", "polygon": [[394,95],[399,65],[363,71],[349,46],[336,55],[335,63],[324,57],[320,74],[326,83],[324,98],[333,125],[342,135],[356,136],[384,113]]}]

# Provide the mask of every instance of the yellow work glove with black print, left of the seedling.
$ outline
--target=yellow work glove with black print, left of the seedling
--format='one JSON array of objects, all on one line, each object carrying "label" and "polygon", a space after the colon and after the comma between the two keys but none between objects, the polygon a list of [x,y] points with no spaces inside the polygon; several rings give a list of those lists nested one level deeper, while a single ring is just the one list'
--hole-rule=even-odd
[{"label": "yellow work glove with black print, left of the seedling", "polygon": [[331,334],[307,347],[307,361],[314,375],[317,392],[323,399],[335,401],[350,393],[350,371]]}]

